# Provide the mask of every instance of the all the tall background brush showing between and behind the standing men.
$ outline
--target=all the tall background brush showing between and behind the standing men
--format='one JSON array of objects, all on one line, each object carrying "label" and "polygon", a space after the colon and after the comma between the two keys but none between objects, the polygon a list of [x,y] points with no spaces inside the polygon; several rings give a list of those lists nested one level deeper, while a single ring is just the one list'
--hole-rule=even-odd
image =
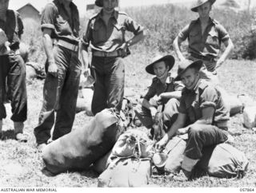
[{"label": "all the tall background brush showing between and behind the standing men", "polygon": [[[86,17],[80,19],[81,37],[86,30],[88,18],[97,11],[88,12]],[[173,49],[172,43],[178,32],[191,20],[198,18],[197,13],[185,7],[172,4],[128,7],[124,11],[146,29],[146,38],[142,43],[134,45],[133,49],[135,51],[145,50],[170,53]],[[214,9],[211,17],[218,20],[226,28],[231,40],[234,42],[234,52],[231,58],[254,59],[256,57],[256,34],[250,31],[251,23],[254,20],[252,13],[248,11],[234,12],[234,10]],[[30,61],[43,63],[46,60],[46,56],[42,47],[40,25],[30,19],[23,22],[25,32],[22,39],[30,45]],[[186,50],[186,46],[187,42],[183,43],[182,50]],[[224,46],[222,47],[223,50]]]}]

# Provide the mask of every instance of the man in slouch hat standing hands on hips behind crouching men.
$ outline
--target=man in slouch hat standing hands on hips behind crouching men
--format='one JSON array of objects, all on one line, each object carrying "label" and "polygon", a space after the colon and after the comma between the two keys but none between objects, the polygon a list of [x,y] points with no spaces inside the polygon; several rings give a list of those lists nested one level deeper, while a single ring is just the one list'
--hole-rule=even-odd
[{"label": "man in slouch hat standing hands on hips behind crouching men", "polygon": [[[198,0],[191,8],[198,12],[199,18],[190,22],[174,40],[174,51],[180,61],[185,61],[180,45],[186,38],[189,41],[188,59],[202,60],[204,63],[200,75],[202,78],[218,84],[217,69],[226,61],[234,45],[225,28],[216,20],[210,18],[210,10],[216,0]],[[221,42],[226,46],[225,51],[217,60]]]}]

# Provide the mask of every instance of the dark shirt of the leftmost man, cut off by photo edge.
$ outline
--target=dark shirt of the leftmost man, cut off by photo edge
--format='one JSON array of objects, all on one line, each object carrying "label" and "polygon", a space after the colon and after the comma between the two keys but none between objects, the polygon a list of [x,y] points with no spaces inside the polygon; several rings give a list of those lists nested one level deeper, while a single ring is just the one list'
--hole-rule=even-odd
[{"label": "dark shirt of the leftmost man, cut off by photo edge", "polygon": [[0,19],[0,28],[6,33],[6,37],[10,42],[10,49],[18,49],[20,37],[24,29],[22,18],[18,12],[7,10],[6,22]]}]

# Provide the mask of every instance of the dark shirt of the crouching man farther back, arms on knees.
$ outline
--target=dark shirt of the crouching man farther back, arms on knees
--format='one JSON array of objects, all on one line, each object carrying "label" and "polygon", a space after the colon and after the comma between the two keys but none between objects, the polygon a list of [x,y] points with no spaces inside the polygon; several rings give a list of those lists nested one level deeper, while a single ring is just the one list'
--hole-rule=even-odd
[{"label": "dark shirt of the crouching man farther back, arms on knees", "polygon": [[[154,77],[144,99],[150,100],[150,98],[154,97],[155,95],[159,96],[161,93],[181,91],[183,87],[184,86],[182,83],[180,81],[174,81],[173,77],[167,77],[166,84],[162,84],[157,77]],[[162,102],[166,104],[168,100],[169,99],[163,99]]]}]

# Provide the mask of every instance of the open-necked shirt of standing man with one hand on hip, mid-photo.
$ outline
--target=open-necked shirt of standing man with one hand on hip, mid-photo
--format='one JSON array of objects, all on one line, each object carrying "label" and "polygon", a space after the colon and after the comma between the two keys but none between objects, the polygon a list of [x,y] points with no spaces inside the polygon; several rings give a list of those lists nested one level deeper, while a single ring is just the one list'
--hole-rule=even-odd
[{"label": "open-necked shirt of standing man with one hand on hip, mid-photo", "polygon": [[86,33],[82,37],[82,43],[87,48],[90,45],[93,50],[113,52],[126,41],[126,30],[136,35],[141,33],[143,28],[127,14],[117,10],[114,10],[108,25],[106,25],[102,19],[101,10],[90,18]]}]

